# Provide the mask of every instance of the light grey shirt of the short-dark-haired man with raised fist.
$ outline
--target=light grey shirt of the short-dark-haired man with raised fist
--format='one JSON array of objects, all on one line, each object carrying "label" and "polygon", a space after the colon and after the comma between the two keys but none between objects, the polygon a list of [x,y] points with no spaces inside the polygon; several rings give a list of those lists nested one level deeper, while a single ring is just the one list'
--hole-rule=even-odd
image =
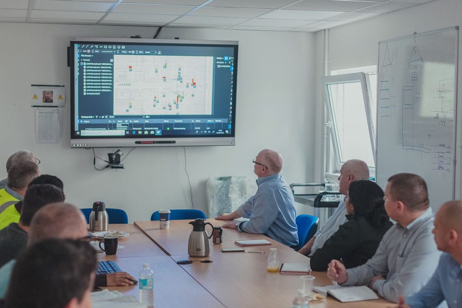
[{"label": "light grey shirt of the short-dark-haired man with raised fist", "polygon": [[441,252],[433,238],[434,214],[428,208],[406,228],[392,226],[383,236],[377,252],[365,264],[347,269],[343,285],[369,285],[377,275],[373,289],[389,301],[411,296],[424,286],[435,271]]}]

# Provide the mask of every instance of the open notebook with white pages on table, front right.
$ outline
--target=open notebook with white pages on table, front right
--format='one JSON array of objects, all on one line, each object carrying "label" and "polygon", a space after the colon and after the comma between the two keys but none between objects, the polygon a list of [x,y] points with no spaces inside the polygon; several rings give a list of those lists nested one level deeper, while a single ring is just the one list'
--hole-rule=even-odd
[{"label": "open notebook with white pages on table, front right", "polygon": [[320,294],[330,294],[341,302],[361,301],[378,299],[377,294],[365,285],[361,286],[341,286],[327,285],[314,286],[313,291]]}]

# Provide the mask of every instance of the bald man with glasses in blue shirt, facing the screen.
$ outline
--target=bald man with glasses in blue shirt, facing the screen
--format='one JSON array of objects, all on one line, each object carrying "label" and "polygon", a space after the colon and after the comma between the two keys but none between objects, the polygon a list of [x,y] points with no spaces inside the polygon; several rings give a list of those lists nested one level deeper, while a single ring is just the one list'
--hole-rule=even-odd
[{"label": "bald man with glasses in blue shirt, facing the screen", "polygon": [[223,227],[235,228],[239,232],[264,234],[287,246],[297,246],[294,197],[280,175],[283,163],[281,155],[274,150],[264,149],[258,153],[253,163],[254,173],[258,177],[257,192],[233,213],[222,214],[216,219],[248,218],[248,221],[225,223]]}]

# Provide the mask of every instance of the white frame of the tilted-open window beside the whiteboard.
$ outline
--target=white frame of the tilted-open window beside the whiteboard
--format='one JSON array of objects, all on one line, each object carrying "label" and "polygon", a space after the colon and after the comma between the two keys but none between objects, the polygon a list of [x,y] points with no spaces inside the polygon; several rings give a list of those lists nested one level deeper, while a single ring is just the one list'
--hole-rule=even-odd
[{"label": "white frame of the tilted-open window beside the whiteboard", "polygon": [[[336,124],[335,120],[335,110],[333,110],[332,106],[333,103],[331,102],[331,97],[329,94],[329,85],[332,84],[346,84],[352,82],[359,82],[361,85],[361,93],[363,97],[363,105],[365,110],[365,117],[368,124],[369,130],[369,140],[372,149],[372,156],[374,160],[374,166],[369,166],[371,173],[375,174],[375,164],[376,164],[376,152],[375,152],[375,127],[374,122],[372,121],[372,108],[371,108],[371,101],[372,101],[372,93],[371,93],[371,86],[369,83],[369,75],[364,72],[358,73],[349,73],[349,74],[339,74],[339,75],[331,75],[331,76],[324,76],[322,78],[322,87],[324,88],[324,102],[327,111],[327,123],[326,126],[329,127],[330,130],[330,138],[332,140],[332,148],[334,149],[334,157],[337,170],[340,170],[343,161],[340,160],[340,142],[338,139],[338,125]],[[328,146],[328,145],[326,145]]]}]

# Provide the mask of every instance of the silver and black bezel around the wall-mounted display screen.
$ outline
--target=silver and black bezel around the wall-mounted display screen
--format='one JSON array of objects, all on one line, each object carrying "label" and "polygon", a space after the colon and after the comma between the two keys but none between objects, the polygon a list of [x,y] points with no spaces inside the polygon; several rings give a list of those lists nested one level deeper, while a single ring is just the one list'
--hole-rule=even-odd
[{"label": "silver and black bezel around the wall-mounted display screen", "polygon": [[[74,87],[74,43],[114,43],[114,44],[140,44],[140,45],[177,45],[177,46],[230,46],[234,48],[234,74],[233,74],[233,99],[232,99],[232,128],[230,133],[223,137],[214,136],[111,136],[111,137],[88,137],[75,133],[75,87]],[[212,145],[235,145],[236,134],[236,92],[237,92],[237,41],[189,41],[189,40],[150,40],[142,38],[101,38],[101,37],[71,37],[69,48],[70,84],[71,84],[71,126],[70,141],[72,148],[91,147],[143,147],[143,146],[212,146]]]}]

